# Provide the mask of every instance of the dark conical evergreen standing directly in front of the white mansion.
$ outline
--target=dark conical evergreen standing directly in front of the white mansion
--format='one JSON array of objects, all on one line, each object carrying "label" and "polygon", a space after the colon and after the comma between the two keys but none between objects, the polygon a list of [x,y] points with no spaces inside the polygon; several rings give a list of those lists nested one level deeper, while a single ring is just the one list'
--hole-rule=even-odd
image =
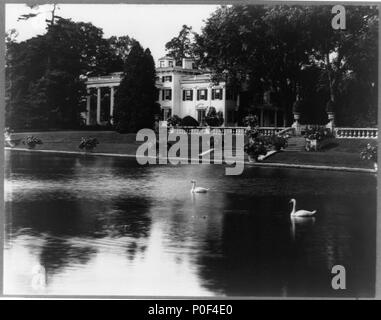
[{"label": "dark conical evergreen standing directly in front of the white mansion", "polygon": [[114,123],[119,132],[152,128],[156,103],[155,64],[149,49],[132,45],[124,66],[123,79],[115,96]]}]

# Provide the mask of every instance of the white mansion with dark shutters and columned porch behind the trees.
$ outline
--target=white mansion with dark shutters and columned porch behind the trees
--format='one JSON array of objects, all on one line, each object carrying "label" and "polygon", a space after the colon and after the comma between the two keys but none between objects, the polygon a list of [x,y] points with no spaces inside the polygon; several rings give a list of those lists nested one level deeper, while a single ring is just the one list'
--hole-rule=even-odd
[{"label": "white mansion with dark shutters and columned porch behind the trees", "polygon": [[[192,59],[182,59],[181,65],[171,57],[163,57],[156,68],[156,87],[162,119],[171,115],[183,118],[192,116],[203,124],[208,109],[214,107],[222,112],[225,126],[237,123],[236,111],[239,96],[227,90],[225,82],[213,83],[211,74],[196,69]],[[112,123],[115,88],[119,86],[122,73],[103,77],[88,78],[87,85],[87,125]],[[255,101],[254,112],[261,126],[285,125],[285,117],[272,104],[270,93],[261,94],[261,101]]]}]

